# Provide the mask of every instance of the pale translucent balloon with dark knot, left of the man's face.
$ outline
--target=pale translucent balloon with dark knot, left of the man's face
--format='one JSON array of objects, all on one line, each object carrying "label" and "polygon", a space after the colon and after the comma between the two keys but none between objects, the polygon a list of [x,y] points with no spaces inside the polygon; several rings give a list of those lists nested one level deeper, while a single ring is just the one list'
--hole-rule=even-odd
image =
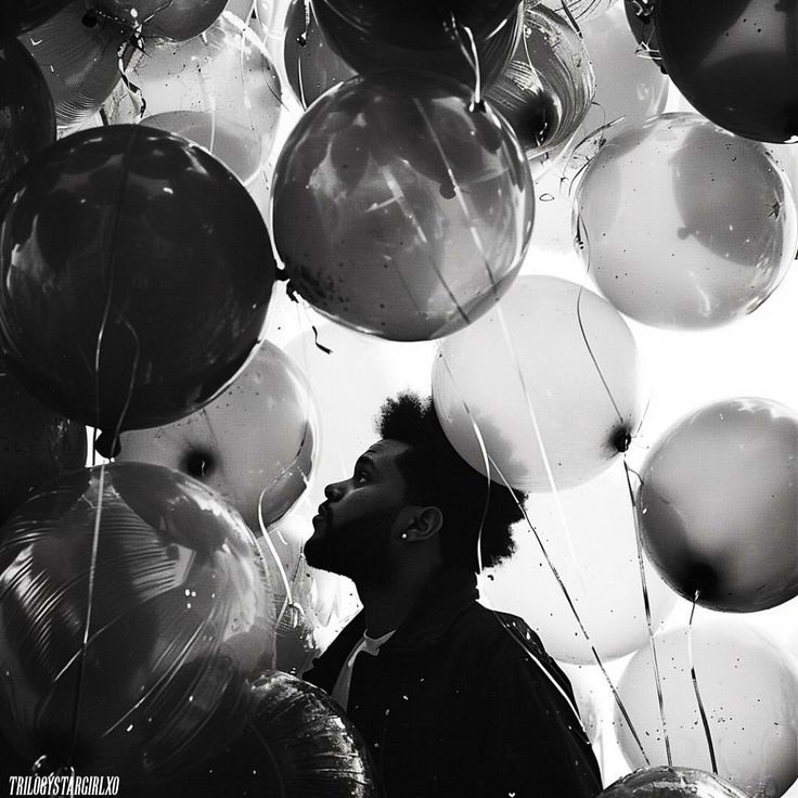
[{"label": "pale translucent balloon with dark knot, left of the man's face", "polygon": [[273,524],[301,495],[317,449],[316,407],[305,375],[263,342],[216,400],[165,427],[121,436],[118,461],[189,474],[221,494],[250,529]]}]

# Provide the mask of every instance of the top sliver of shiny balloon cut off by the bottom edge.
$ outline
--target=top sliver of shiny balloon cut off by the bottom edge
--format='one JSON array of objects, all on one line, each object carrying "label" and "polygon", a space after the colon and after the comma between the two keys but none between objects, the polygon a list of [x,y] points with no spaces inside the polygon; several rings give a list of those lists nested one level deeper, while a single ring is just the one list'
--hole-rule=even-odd
[{"label": "top sliver of shiny balloon cut off by the bottom edge", "polygon": [[719,776],[692,768],[635,770],[610,784],[601,798],[748,798]]}]

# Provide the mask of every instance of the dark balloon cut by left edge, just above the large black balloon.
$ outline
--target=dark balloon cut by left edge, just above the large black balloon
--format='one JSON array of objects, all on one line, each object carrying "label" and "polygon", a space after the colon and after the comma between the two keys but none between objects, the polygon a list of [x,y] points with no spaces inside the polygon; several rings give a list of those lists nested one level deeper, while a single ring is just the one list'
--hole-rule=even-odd
[{"label": "dark balloon cut by left edge, just above the large black balloon", "polygon": [[41,70],[16,39],[0,41],[0,192],[53,141],[55,112]]}]

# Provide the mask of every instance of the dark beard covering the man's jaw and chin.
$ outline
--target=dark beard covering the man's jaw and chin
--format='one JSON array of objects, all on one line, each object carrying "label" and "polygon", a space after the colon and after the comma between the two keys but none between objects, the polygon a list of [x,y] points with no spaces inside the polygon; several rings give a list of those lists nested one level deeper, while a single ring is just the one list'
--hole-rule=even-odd
[{"label": "dark beard covering the man's jaw and chin", "polygon": [[351,579],[358,587],[384,584],[394,566],[388,554],[389,525],[381,527],[324,529],[305,543],[305,559],[313,568]]}]

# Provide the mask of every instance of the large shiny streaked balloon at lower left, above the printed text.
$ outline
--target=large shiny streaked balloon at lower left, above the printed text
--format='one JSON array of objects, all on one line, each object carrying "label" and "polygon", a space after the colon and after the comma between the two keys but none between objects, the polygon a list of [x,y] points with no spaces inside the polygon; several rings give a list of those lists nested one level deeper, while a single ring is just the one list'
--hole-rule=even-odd
[{"label": "large shiny streaked balloon at lower left, above the printed text", "polygon": [[141,463],[75,472],[2,528],[2,731],[53,770],[180,773],[243,726],[273,620],[252,533],[208,488]]}]

